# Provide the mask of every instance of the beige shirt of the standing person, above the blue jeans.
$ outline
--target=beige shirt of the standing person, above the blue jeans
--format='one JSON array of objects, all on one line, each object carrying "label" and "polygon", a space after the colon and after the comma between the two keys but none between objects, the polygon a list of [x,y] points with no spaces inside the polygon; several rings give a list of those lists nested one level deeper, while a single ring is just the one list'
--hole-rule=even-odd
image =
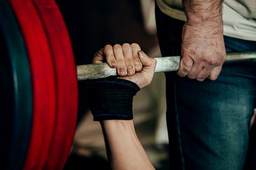
[{"label": "beige shirt of the standing person, above the blue jeans", "polygon": [[[182,0],[156,0],[166,15],[186,21]],[[223,3],[225,36],[256,41],[256,0],[225,0]]]}]

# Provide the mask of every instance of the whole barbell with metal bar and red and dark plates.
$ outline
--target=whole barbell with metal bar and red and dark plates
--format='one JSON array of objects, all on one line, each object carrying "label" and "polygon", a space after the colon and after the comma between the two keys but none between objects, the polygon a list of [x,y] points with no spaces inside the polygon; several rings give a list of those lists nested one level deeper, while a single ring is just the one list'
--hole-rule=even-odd
[{"label": "whole barbell with metal bar and red and dark plates", "polygon": [[[77,118],[77,80],[115,76],[102,64],[77,66],[54,0],[1,0],[0,169],[62,169]],[[255,52],[226,62],[254,62]],[[156,72],[179,69],[180,56],[156,58]]]}]

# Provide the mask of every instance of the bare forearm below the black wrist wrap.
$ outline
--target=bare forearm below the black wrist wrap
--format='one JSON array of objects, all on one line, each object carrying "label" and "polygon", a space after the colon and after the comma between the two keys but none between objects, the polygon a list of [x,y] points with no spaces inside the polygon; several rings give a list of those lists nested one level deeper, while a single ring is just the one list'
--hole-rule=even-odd
[{"label": "bare forearm below the black wrist wrap", "polygon": [[104,120],[101,125],[112,169],[154,169],[132,120]]}]

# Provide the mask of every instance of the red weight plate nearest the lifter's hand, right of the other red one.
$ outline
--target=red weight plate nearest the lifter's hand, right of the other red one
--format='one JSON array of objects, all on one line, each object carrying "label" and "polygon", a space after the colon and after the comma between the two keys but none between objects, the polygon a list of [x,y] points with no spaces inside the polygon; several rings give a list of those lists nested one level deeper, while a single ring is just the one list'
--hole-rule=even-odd
[{"label": "red weight plate nearest the lifter's hand, right of the other red one", "polygon": [[63,169],[77,120],[77,74],[65,22],[54,0],[32,0],[47,33],[57,85],[56,126],[44,169]]}]

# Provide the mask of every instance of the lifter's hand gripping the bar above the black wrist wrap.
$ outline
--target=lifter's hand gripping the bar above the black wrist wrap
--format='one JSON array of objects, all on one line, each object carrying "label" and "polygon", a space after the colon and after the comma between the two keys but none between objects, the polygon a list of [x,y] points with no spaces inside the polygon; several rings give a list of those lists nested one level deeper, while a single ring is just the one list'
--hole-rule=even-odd
[{"label": "lifter's hand gripping the bar above the black wrist wrap", "polygon": [[148,57],[138,44],[106,45],[95,53],[93,63],[108,62],[110,67],[116,68],[120,79],[132,81],[142,89],[150,85],[156,60]]}]

